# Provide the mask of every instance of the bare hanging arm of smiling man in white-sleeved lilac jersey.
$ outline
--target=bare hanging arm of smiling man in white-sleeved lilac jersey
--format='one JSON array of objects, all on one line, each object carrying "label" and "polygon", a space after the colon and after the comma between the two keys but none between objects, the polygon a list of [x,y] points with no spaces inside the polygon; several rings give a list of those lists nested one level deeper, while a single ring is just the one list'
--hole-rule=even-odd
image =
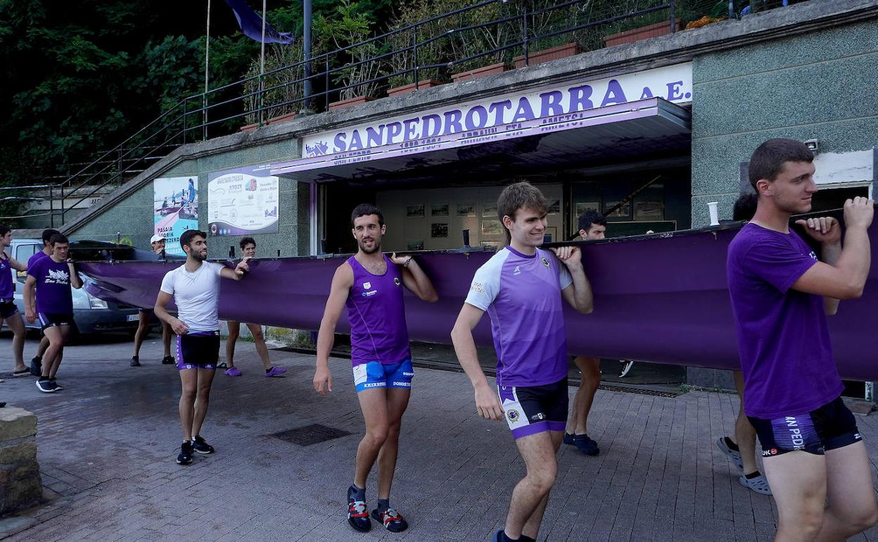
[{"label": "bare hanging arm of smiling man in white-sleeved lilac jersey", "polygon": [[501,420],[503,407],[500,405],[500,398],[497,397],[496,392],[485,378],[485,372],[479,365],[476,342],[472,338],[472,330],[479,324],[482,314],[485,314],[485,311],[479,307],[464,303],[460,314],[457,314],[457,322],[451,329],[451,343],[454,344],[457,361],[463,367],[466,376],[470,378],[472,389],[475,391],[476,409],[479,411],[479,416],[489,420]]}]

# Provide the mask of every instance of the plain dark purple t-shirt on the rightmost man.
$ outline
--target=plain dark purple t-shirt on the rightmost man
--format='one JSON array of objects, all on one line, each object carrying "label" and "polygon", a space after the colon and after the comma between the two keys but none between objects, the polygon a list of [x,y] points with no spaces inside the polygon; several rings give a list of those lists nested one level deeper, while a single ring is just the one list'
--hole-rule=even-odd
[{"label": "plain dark purple t-shirt on the rightmost man", "polygon": [[832,361],[824,298],[790,289],[817,263],[814,251],[793,231],[751,222],[728,256],[747,416],[798,416],[836,399],[844,386]]}]

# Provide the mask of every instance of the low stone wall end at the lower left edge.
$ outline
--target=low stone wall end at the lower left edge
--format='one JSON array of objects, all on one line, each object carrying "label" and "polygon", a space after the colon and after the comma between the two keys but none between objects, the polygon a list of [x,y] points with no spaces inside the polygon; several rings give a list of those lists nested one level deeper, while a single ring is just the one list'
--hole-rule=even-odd
[{"label": "low stone wall end at the lower left edge", "polygon": [[37,416],[24,408],[0,408],[0,516],[41,498]]}]

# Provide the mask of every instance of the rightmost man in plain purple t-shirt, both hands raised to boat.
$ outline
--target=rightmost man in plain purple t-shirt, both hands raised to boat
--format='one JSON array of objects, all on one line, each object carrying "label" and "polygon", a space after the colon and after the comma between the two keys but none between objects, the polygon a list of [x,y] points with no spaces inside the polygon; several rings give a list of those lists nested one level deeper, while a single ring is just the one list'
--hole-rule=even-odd
[{"label": "rightmost man in plain purple t-shirt, both hands raised to boat", "polygon": [[820,243],[819,261],[788,228],[791,215],[810,211],[817,192],[813,159],[788,139],[753,152],[750,183],[759,204],[730,243],[726,264],[745,414],[777,502],[775,540],[842,540],[878,522],[866,447],[841,401],[825,317],[838,300],[863,293],[874,202],[845,202],[844,248],[838,220],[796,220]]}]

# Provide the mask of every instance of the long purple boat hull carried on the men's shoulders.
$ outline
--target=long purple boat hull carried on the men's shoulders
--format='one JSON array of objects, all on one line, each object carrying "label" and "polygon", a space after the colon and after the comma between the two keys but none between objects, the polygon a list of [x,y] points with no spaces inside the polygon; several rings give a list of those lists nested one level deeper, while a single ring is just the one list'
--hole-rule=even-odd
[{"label": "long purple boat hull carried on the men's shoulders", "polygon": [[[594,313],[565,307],[568,352],[602,358],[738,369],[738,342],[725,278],[726,249],[734,227],[688,230],[577,243],[594,288]],[[878,261],[878,224],[869,231]],[[450,343],[450,331],[471,278],[493,252],[421,252],[419,264],[439,294],[425,303],[406,293],[413,340]],[[222,281],[219,317],[294,329],[318,329],[335,268],[346,257],[258,260],[241,282]],[[180,262],[83,263],[90,293],[152,307],[165,272]],[[878,273],[873,265],[858,300],[842,301],[829,317],[832,347],[845,379],[876,380]],[[539,326],[540,322],[533,322]],[[348,330],[342,316],[339,331]],[[476,341],[491,346],[488,318]]]}]

